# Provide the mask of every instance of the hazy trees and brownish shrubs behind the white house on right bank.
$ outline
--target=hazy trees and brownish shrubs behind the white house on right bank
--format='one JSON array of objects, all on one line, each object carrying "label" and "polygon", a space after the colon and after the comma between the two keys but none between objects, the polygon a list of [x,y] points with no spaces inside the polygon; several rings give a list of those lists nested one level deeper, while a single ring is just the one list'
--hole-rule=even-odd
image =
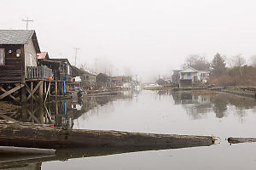
[{"label": "hazy trees and brownish shrubs behind the white house on right bank", "polygon": [[256,85],[256,57],[252,65],[247,65],[246,59],[241,54],[228,59],[217,53],[211,62],[200,55],[189,55],[185,60],[185,65],[198,71],[211,71],[209,82],[215,85]]}]

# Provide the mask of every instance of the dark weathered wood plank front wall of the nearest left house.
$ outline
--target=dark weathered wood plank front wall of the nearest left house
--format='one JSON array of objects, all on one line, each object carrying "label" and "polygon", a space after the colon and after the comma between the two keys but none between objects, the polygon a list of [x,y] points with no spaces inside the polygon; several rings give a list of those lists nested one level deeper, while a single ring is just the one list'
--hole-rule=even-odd
[{"label": "dark weathered wood plank front wall of the nearest left house", "polygon": [[16,57],[16,50],[23,45],[0,45],[0,48],[5,52],[5,65],[0,65],[0,82],[21,82],[23,56]]}]

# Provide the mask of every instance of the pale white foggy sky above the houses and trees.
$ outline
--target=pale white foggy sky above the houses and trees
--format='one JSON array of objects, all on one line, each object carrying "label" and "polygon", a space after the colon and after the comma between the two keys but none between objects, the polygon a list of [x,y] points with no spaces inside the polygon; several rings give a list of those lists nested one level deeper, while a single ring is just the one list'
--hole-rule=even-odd
[{"label": "pale white foggy sky above the houses and trees", "polygon": [[[256,54],[256,2],[243,0],[0,0],[0,29],[34,22],[51,58],[144,81],[171,76],[189,54]],[[102,65],[104,65],[102,68]],[[107,66],[106,66],[107,65]]]}]

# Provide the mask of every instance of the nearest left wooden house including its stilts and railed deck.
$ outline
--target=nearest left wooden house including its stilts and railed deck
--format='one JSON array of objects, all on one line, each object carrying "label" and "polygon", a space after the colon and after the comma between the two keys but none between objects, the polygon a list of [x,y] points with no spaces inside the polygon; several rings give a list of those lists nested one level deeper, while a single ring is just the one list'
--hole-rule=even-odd
[{"label": "nearest left wooden house including its stilts and railed deck", "polygon": [[9,96],[16,101],[23,98],[26,102],[36,99],[34,94],[38,89],[43,99],[43,82],[52,76],[52,71],[46,66],[38,66],[38,53],[35,31],[0,30],[0,99]]}]

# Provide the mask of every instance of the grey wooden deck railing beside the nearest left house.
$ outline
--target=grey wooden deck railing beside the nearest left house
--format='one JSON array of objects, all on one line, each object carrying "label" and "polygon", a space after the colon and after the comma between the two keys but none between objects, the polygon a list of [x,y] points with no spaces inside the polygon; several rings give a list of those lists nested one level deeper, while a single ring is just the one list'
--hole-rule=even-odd
[{"label": "grey wooden deck railing beside the nearest left house", "polygon": [[39,78],[39,79],[48,80],[49,77],[52,77],[52,70],[45,65],[26,67],[27,79]]}]

